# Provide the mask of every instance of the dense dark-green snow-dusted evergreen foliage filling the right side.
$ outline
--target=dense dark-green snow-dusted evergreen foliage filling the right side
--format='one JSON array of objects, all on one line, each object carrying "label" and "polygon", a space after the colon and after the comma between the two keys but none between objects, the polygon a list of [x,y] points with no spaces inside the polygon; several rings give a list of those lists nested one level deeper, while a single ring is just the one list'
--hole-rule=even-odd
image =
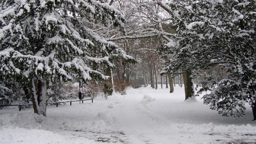
[{"label": "dense dark-green snow-dusted evergreen foliage filling the right side", "polygon": [[[172,14],[177,34],[162,47],[172,54],[165,71],[178,74],[207,73],[201,83],[204,103],[224,116],[244,115],[245,103],[256,120],[256,1],[255,0],[156,0]],[[211,75],[212,69],[225,75]],[[208,70],[208,71],[207,71]]]}]

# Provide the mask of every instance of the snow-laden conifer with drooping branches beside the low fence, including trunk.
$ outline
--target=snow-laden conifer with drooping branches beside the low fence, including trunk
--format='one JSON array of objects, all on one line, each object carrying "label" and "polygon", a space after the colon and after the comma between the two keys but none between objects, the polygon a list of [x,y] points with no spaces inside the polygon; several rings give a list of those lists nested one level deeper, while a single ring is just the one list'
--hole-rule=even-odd
[{"label": "snow-laden conifer with drooping branches beside the low fence, including trunk", "polygon": [[[30,88],[34,112],[46,116],[46,85],[108,79],[101,67],[134,59],[97,29],[120,27],[123,15],[97,0],[1,0],[0,78]],[[97,25],[97,27],[96,27]]]}]

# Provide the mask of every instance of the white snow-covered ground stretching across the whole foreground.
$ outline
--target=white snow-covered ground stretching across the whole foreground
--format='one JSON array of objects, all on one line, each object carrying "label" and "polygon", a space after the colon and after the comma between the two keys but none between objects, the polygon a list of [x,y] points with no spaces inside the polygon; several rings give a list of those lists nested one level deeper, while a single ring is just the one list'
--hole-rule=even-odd
[{"label": "white snow-covered ground stretching across the whole foreground", "polygon": [[184,102],[184,88],[129,89],[93,103],[0,110],[0,144],[256,144],[251,108],[240,118],[222,117],[200,97]]}]

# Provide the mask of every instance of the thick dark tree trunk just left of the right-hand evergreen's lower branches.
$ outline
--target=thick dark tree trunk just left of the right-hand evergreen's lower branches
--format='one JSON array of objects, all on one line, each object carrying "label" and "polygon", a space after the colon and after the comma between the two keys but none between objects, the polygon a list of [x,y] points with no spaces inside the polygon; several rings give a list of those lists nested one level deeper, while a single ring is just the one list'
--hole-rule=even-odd
[{"label": "thick dark tree trunk just left of the right-hand evergreen's lower branches", "polygon": [[190,77],[191,75],[192,75],[191,71],[186,71],[183,73],[185,100],[195,96],[193,81],[192,81],[192,78]]}]

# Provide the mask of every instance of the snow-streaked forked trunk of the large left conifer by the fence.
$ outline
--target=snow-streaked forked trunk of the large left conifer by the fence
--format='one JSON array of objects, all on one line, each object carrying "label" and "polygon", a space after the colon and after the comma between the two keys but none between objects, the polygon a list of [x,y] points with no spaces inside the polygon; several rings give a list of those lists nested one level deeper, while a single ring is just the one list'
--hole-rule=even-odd
[{"label": "snow-streaked forked trunk of the large left conifer by the fence", "polygon": [[46,116],[46,82],[38,80],[36,88],[35,81],[34,78],[30,81],[31,100],[34,112]]}]

